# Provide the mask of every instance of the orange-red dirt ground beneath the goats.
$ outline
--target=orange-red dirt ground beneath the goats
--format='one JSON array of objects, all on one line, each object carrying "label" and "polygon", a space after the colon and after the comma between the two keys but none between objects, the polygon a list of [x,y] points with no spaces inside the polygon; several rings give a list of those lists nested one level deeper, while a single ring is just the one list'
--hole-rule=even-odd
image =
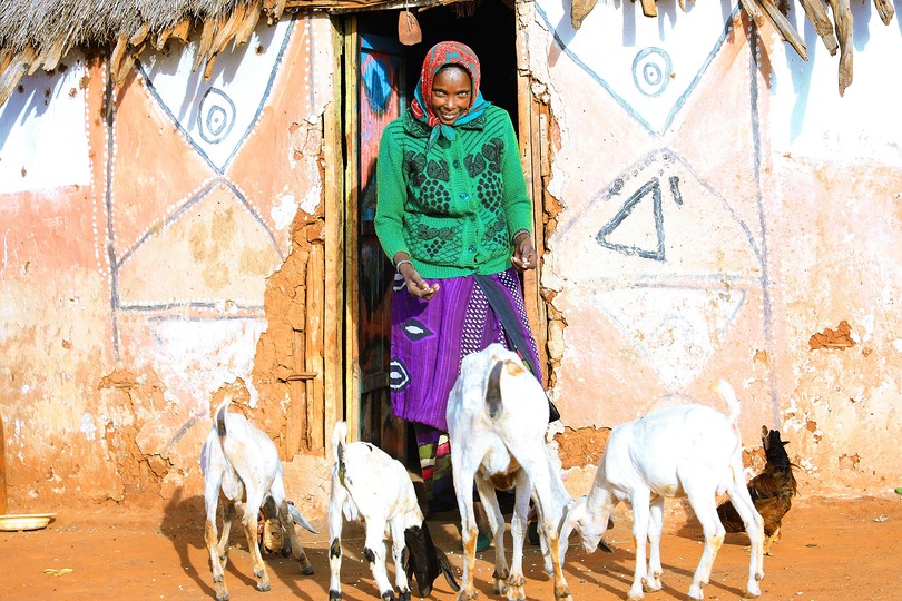
[{"label": "orange-red dirt ground beneath the goats", "polygon": [[[59,510],[45,530],[0,532],[0,598],[213,599],[202,514],[199,499],[183,501],[163,512],[71,508]],[[626,598],[634,559],[629,513],[624,511],[615,518],[615,528],[607,536],[614,554],[586,554],[581,548],[571,548],[567,556],[565,573],[576,600]],[[231,599],[327,599],[326,528],[322,520],[315,520],[314,526],[322,534],[303,532],[302,541],[316,573],[303,577],[291,560],[269,556],[272,591],[268,593],[254,589],[251,559],[241,529],[233,529],[226,569]],[[453,520],[438,520],[432,530],[438,544],[451,551],[451,564],[460,575],[460,539]],[[665,530],[661,542],[664,590],[648,593],[646,599],[686,599],[702,553],[700,529],[690,519],[665,523]],[[899,598],[902,496],[800,497],[784,520],[783,531],[783,540],[774,545],[773,555],[765,558],[762,599]],[[361,561],[361,530],[349,528],[343,543],[344,599],[378,599],[369,569]],[[742,595],[748,565],[745,544],[744,534],[727,535],[710,583],[705,588],[706,599]],[[527,595],[552,599],[551,580],[541,570],[538,548],[529,545],[526,551]],[[478,555],[475,578],[482,599],[496,597],[490,581],[492,559],[493,550]],[[432,597],[454,599],[441,578],[435,582]]]}]

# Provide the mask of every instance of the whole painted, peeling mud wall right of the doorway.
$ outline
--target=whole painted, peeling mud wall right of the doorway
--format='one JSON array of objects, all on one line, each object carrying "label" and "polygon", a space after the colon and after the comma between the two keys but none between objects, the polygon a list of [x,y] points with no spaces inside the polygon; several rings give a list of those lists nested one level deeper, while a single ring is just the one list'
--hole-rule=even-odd
[{"label": "whole painted, peeling mud wall right of the doorway", "polygon": [[683,395],[720,406],[725,377],[746,447],[782,430],[806,493],[891,491],[902,121],[874,101],[900,91],[882,67],[899,28],[854,8],[840,97],[813,35],[804,62],[736,10],[658,10],[598,3],[575,31],[539,0],[526,26],[553,116],[541,282],[572,487],[597,463],[586,441]]}]

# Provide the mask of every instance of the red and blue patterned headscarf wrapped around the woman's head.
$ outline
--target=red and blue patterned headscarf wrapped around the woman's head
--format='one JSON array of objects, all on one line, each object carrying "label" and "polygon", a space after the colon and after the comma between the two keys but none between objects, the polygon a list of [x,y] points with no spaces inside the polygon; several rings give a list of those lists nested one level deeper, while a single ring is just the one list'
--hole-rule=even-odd
[{"label": "red and blue patterned headscarf wrapped around the woman's head", "polygon": [[[441,122],[439,117],[432,110],[432,102],[428,99],[432,98],[432,82],[435,79],[435,73],[439,69],[449,65],[457,65],[462,67],[470,73],[470,81],[473,83],[473,89],[470,96],[470,109],[458,117],[453,126],[448,126]],[[420,81],[416,83],[416,89],[413,91],[413,100],[410,108],[413,116],[425,124],[430,128],[428,147],[431,147],[438,140],[439,135],[444,136],[449,140],[454,139],[454,126],[465,125],[480,115],[489,107],[488,102],[482,98],[482,92],[479,91],[480,82],[482,81],[482,73],[479,67],[479,58],[465,43],[457,41],[439,42],[427,52],[423,59],[423,67],[420,70]]]}]

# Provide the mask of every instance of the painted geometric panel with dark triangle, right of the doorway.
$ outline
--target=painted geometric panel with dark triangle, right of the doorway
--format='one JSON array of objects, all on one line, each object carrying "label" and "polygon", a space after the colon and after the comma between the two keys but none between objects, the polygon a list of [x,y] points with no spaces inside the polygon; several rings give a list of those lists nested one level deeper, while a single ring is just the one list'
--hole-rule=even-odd
[{"label": "painted geometric panel with dark triangle, right of the doorway", "polygon": [[[746,135],[729,140],[734,160],[728,171],[710,169],[710,154],[723,142],[692,144],[695,137],[717,136],[724,119],[731,121],[724,129],[732,130],[729,125],[747,119],[754,104],[749,68],[735,68],[742,65],[736,58],[742,48],[725,48],[739,23],[736,12],[694,7],[685,18],[653,20],[633,8],[616,9],[624,20],[612,18],[612,7],[597,7],[573,31],[559,4],[538,7],[539,19],[553,31],[549,56],[555,87],[568,98],[566,115],[585,102],[594,121],[566,119],[579,156],[561,169],[571,173],[558,184],[567,207],[549,240],[548,282],[560,288],[555,304],[567,316],[567,337],[587,339],[599,328],[617,333],[612,346],[565,355],[556,393],[567,404],[568,396],[588,392],[592,384],[581,374],[601,364],[608,375],[617,374],[618,366],[626,371],[615,381],[646,382],[639,386],[646,398],[614,408],[616,415],[606,415],[606,423],[635,417],[661,394],[698,388],[712,365],[737,349],[731,329],[738,323],[745,328],[754,323],[753,339],[744,344],[773,345],[763,213],[756,201],[761,190],[754,178],[756,132],[746,124],[737,128]],[[709,96],[722,93],[705,78],[723,76],[723,63],[734,65],[727,86],[746,107],[732,116],[717,111],[720,124],[705,121]],[[720,90],[724,86],[718,80]],[[577,92],[579,87],[587,91]],[[616,139],[616,152],[606,139]],[[567,149],[562,154],[569,157]],[[580,165],[592,156],[605,164]],[[589,169],[598,176],[575,181]],[[610,354],[626,354],[634,365],[611,362]],[[647,384],[649,376],[655,385]],[[773,396],[772,388],[765,376],[763,393]],[[617,385],[614,391],[620,393]],[[572,410],[577,423],[600,420],[591,406]],[[764,415],[775,411],[773,402],[763,407]]]}]

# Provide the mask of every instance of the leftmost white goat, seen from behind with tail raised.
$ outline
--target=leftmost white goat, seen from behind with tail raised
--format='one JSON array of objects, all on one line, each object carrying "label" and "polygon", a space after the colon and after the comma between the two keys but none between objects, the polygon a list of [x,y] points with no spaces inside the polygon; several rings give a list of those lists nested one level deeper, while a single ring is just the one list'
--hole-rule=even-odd
[{"label": "leftmost white goat, seen from behind with tail raised", "polygon": [[[282,482],[282,463],[273,441],[261,430],[254,427],[244,415],[228,413],[232,395],[216,408],[214,425],[200,451],[200,469],[204,472],[204,504],[206,505],[205,539],[209,552],[213,583],[216,587],[216,600],[228,599],[228,588],[224,580],[224,570],[228,560],[228,534],[236,509],[242,515],[242,525],[247,538],[251,561],[254,564],[254,577],[257,590],[269,590],[269,574],[259,553],[257,544],[257,518],[261,506],[275,505],[278,520],[288,533],[292,554],[301,565],[301,572],[310,575],[313,566],[307,561],[304,548],[297,540],[294,519],[313,533],[317,533],[300,512],[290,512],[285,500],[285,485]],[[223,501],[223,533],[217,538],[216,511],[219,500]],[[272,505],[271,505],[272,506]]]}]

